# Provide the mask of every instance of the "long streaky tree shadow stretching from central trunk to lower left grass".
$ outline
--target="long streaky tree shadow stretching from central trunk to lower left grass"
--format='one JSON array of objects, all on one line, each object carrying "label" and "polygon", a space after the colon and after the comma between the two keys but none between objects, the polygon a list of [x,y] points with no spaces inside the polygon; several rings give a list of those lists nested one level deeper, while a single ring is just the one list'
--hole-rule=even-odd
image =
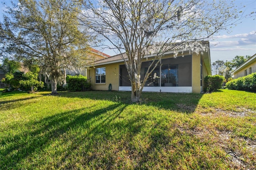
[{"label": "long streaky tree shadow stretching from central trunk to lower left grass", "polygon": [[[92,106],[92,108],[93,107],[94,106]],[[104,126],[118,117],[125,107],[125,105],[117,103],[93,112],[84,112],[82,108],[46,117],[40,121],[30,122],[28,125],[24,125],[24,127],[28,127],[28,129],[22,130],[22,132],[14,136],[5,135],[4,138],[0,140],[0,145],[2,146],[0,150],[1,168],[17,168],[17,165],[22,164],[22,161],[24,161],[27,156],[44,150],[51,145],[53,141],[60,140],[63,135],[65,136],[65,134],[72,129],[87,127],[90,131],[88,131],[86,136],[100,134],[98,130],[104,129]],[[102,114],[106,114],[106,111],[113,111],[115,109],[118,109],[118,112],[108,117],[101,117]],[[94,124],[96,124],[95,127],[90,128],[90,126]],[[66,140],[70,139],[67,138]],[[72,142],[72,140],[66,142]],[[67,151],[72,152],[72,149],[74,148],[70,148],[70,151],[67,149]],[[43,157],[43,155],[41,156]]]}]

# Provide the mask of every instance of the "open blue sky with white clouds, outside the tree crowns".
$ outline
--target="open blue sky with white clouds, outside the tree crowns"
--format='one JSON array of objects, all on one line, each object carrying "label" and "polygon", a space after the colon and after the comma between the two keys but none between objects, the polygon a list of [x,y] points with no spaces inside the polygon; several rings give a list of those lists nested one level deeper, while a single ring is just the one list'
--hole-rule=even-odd
[{"label": "open blue sky with white clouds, outside the tree crowns", "polygon": [[[10,2],[10,0],[0,0],[0,21],[2,21],[3,10],[2,2]],[[219,32],[214,36],[214,40],[210,41],[211,61],[216,60],[232,60],[236,55],[254,55],[256,53],[256,0],[236,0],[237,6],[245,6],[244,14],[254,11],[254,17],[245,18],[231,29],[230,33],[226,31]],[[102,51],[102,50],[100,50]],[[116,55],[114,51],[104,49],[102,51],[108,55]]]}]

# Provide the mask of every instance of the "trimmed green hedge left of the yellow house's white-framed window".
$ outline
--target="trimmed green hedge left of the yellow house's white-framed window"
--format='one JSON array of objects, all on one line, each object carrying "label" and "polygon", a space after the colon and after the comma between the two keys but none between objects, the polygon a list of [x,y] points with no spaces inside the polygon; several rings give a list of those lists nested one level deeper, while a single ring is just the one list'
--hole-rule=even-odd
[{"label": "trimmed green hedge left of the yellow house's white-framed window", "polygon": [[66,81],[69,91],[86,91],[91,89],[91,83],[87,83],[87,77],[82,75],[67,75]]}]

